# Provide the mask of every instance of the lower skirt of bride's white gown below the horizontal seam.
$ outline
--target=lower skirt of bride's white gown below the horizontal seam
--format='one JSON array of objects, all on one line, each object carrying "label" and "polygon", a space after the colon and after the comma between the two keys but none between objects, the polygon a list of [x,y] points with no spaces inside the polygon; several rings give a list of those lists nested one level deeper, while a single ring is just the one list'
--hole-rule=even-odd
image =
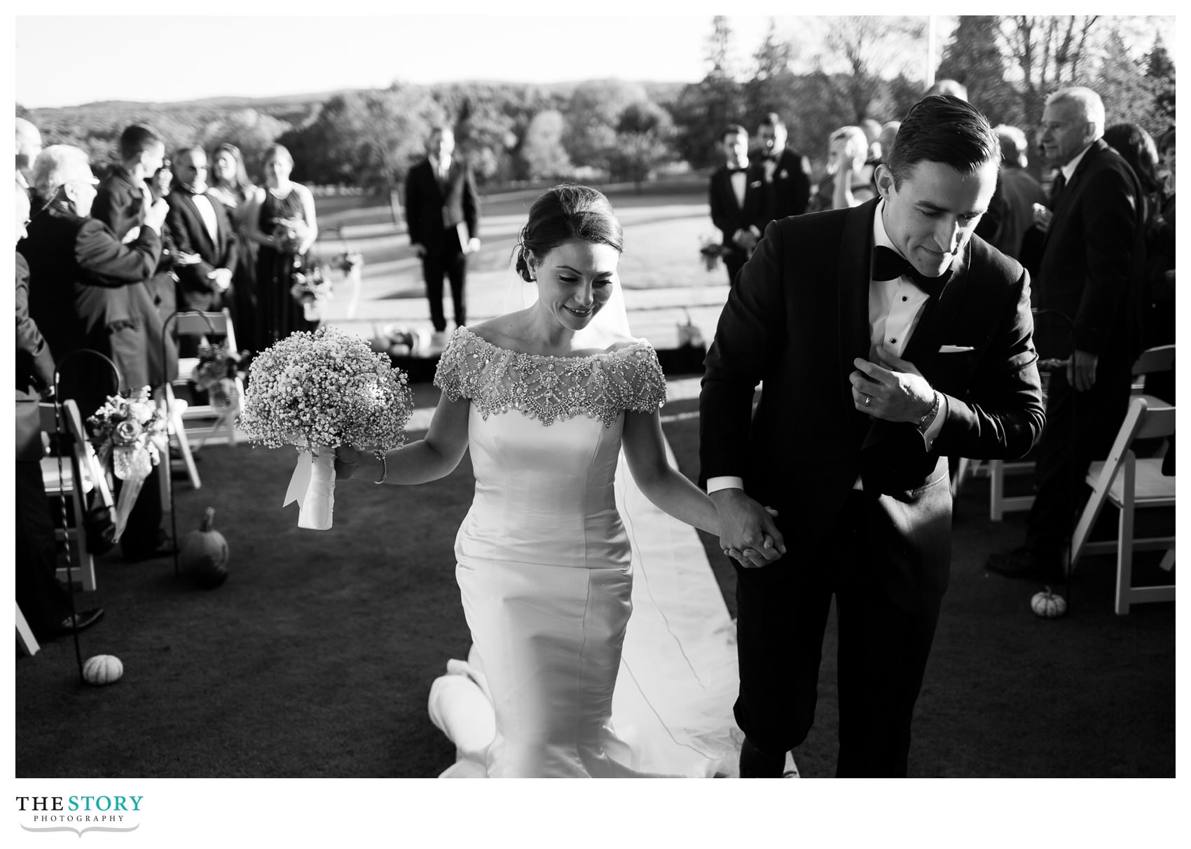
[{"label": "lower skirt of bride's white gown below the horizontal seam", "polygon": [[488,776],[638,774],[610,720],[631,570],[469,560],[455,575],[497,717]]}]

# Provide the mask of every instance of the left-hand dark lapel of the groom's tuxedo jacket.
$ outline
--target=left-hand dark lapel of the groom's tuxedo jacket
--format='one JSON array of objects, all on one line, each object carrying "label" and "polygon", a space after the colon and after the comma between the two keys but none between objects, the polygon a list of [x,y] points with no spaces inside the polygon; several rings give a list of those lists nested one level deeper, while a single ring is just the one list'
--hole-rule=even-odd
[{"label": "left-hand dark lapel of the groom's tuxedo jacket", "polygon": [[[843,223],[843,236],[840,239],[838,277],[840,289],[840,391],[842,400],[850,408],[850,375],[856,370],[853,361],[856,357],[868,358],[869,323],[868,323],[868,287],[872,269],[869,255],[873,248],[873,214],[877,200],[853,207]],[[859,430],[868,426],[868,417],[856,412],[855,425]]]}]

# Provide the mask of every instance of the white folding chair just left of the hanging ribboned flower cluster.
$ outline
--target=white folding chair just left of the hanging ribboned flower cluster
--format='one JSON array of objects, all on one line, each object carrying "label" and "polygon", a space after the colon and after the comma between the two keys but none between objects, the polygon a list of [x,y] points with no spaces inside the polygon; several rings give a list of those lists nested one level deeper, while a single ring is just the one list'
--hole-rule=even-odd
[{"label": "white folding chair just left of the hanging ribboned flower cluster", "polygon": [[[56,452],[42,458],[45,494],[54,499],[55,505],[60,504],[60,498],[70,501],[64,526],[55,531],[56,538],[64,541],[69,547],[70,574],[62,567],[57,570],[57,576],[63,582],[76,581],[85,591],[92,591],[95,588],[95,563],[87,550],[87,530],[83,522],[87,497],[96,492],[108,508],[113,507],[114,501],[107,486],[107,474],[99,464],[99,458],[82,427],[79,407],[71,399],[62,401],[61,405],[44,402],[40,405],[42,432],[46,436],[58,432],[60,412],[62,435],[66,438],[46,439],[48,445],[56,445],[57,449]],[[61,516],[61,511],[55,508],[54,514]]]}]

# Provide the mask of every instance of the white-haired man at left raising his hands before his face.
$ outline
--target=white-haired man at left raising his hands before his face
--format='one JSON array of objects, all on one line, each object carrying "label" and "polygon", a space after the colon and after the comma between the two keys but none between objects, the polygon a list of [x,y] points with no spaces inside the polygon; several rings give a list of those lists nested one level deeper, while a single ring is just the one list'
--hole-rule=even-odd
[{"label": "white-haired man at left raising his hands before his face", "polygon": [[[98,357],[67,363],[75,351],[92,349],[108,357],[119,372],[121,394],[164,380],[151,373],[150,351],[161,350],[162,323],[143,281],[157,264],[168,207],[160,199],[146,208],[136,238],[123,244],[91,217],[98,181],[85,151],[46,148],[33,177],[40,206],[18,245],[29,262],[29,311],[58,364],[62,397],[75,399],[87,418],[117,386],[111,367]],[[164,535],[156,474],[155,468],[145,480],[145,495],[137,499],[120,538],[125,560],[169,553],[160,549]]]}]

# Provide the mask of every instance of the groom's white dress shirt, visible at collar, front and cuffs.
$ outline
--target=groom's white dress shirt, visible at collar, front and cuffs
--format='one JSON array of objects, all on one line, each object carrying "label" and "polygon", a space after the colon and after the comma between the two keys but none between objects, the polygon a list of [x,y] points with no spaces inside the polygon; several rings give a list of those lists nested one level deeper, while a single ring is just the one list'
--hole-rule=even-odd
[{"label": "groom's white dress shirt, visible at collar, front and cuffs", "polygon": [[[884,245],[897,251],[893,241],[885,232],[885,221],[881,220],[881,212],[885,201],[877,205],[877,214],[873,216],[873,245]],[[900,254],[900,251],[897,251]],[[871,262],[871,261],[869,261]],[[877,362],[877,347],[884,344],[894,356],[900,357],[910,344],[910,337],[922,318],[922,308],[927,305],[929,296],[925,292],[915,286],[913,280],[906,274],[893,280],[869,280],[868,281],[868,360]],[[943,427],[947,418],[947,395],[939,393],[939,413],[922,435],[927,450],[935,443],[935,437]],[[707,479],[707,493],[718,489],[743,489],[744,479],[735,475],[722,475]],[[860,479],[856,479],[854,489],[861,489]]]}]

